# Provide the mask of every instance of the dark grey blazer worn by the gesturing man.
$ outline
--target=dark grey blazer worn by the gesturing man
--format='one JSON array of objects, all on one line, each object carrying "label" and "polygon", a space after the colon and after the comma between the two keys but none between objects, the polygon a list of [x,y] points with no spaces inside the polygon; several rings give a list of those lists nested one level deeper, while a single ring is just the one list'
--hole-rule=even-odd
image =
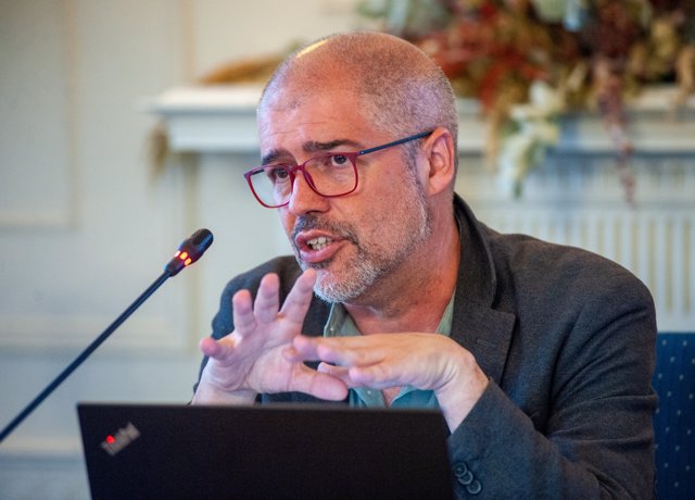
[{"label": "dark grey blazer worn by the gesturing man", "polygon": [[[452,338],[491,380],[448,437],[457,498],[653,498],[656,320],[646,287],[584,250],[495,233],[457,196],[454,212],[462,258]],[[233,330],[231,296],[255,293],[269,272],[283,300],[300,268],[283,257],[232,279],[214,337]],[[314,297],[304,334],[323,335],[329,310]],[[298,392],[260,400],[316,401]]]}]

